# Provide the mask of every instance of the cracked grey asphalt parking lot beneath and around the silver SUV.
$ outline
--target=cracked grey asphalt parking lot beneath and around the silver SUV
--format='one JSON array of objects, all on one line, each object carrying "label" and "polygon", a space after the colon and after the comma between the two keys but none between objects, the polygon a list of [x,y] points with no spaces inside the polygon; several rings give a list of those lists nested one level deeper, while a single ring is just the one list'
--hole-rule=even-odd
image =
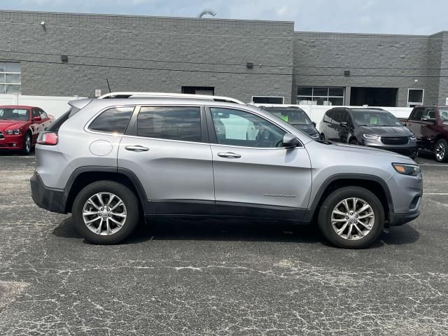
[{"label": "cracked grey asphalt parking lot beneath and around the silver SUV", "polygon": [[365,250],[281,223],[159,220],[95,246],[0,154],[0,335],[447,335],[448,165],[422,214]]}]

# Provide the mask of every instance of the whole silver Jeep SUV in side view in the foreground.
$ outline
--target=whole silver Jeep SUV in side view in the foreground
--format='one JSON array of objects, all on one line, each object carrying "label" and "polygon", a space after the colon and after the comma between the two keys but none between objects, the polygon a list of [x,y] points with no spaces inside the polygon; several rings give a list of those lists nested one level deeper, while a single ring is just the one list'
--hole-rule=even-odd
[{"label": "whole silver Jeep SUV in side view in the foreground", "polygon": [[31,191],[97,244],[123,241],[142,216],[236,216],[317,223],[361,248],[419,216],[413,160],[316,141],[236,99],[118,92],[70,105],[38,139]]}]

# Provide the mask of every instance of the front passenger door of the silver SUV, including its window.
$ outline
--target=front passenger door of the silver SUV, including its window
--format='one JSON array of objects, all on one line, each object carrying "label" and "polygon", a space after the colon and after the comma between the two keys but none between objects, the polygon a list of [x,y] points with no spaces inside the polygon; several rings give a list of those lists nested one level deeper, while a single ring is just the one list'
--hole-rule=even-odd
[{"label": "front passenger door of the silver SUV, including its window", "polygon": [[283,148],[286,131],[243,109],[210,107],[216,214],[300,220],[311,190],[303,146]]}]

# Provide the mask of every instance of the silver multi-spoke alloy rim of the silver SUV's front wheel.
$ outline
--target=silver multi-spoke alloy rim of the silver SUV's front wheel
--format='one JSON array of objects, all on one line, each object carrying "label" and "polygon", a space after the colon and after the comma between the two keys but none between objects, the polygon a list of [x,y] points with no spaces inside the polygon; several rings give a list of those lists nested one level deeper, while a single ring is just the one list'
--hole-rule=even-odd
[{"label": "silver multi-spoke alloy rim of the silver SUV's front wheel", "polygon": [[370,204],[351,197],[339,202],[331,214],[331,225],[339,237],[347,240],[362,239],[373,228],[375,216]]}]

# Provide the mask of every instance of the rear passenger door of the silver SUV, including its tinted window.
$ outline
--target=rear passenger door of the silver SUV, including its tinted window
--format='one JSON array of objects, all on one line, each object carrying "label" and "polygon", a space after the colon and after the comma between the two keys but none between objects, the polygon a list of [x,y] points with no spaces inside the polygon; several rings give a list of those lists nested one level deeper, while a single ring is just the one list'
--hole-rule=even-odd
[{"label": "rear passenger door of the silver SUV, including its tinted window", "polygon": [[118,169],[133,172],[146,214],[214,214],[211,148],[200,106],[141,106],[120,141]]}]

